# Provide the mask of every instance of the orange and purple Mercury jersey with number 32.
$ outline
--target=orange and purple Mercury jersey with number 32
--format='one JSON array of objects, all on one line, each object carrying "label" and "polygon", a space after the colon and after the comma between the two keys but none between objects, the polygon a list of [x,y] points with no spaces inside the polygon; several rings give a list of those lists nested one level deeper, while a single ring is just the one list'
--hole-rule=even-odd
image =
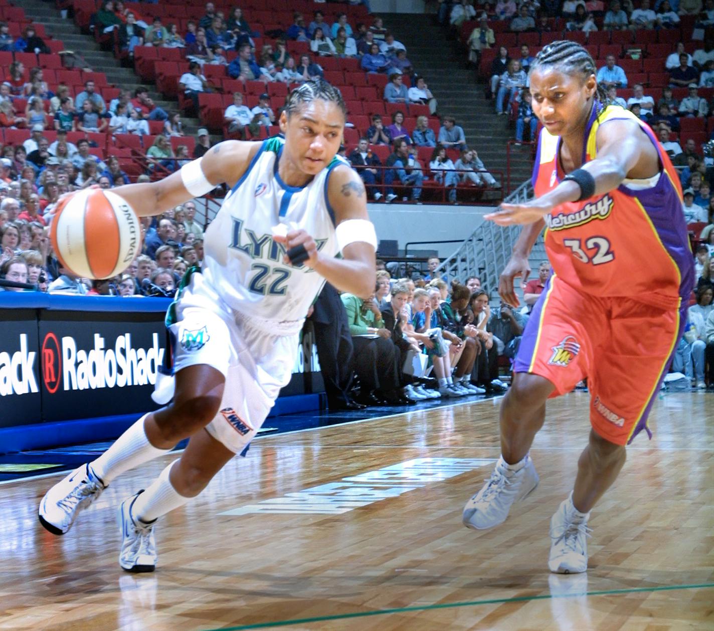
[{"label": "orange and purple Mercury jersey with number 32", "polygon": [[[598,116],[599,111],[599,116]],[[545,216],[545,248],[561,281],[591,296],[628,296],[660,308],[688,300],[694,264],[675,168],[652,130],[620,106],[593,107],[583,164],[597,157],[595,136],[606,121],[638,123],[657,148],[662,169],[649,180],[625,180],[605,195],[563,203]],[[543,128],[533,168],[540,197],[560,183],[560,136]]]}]

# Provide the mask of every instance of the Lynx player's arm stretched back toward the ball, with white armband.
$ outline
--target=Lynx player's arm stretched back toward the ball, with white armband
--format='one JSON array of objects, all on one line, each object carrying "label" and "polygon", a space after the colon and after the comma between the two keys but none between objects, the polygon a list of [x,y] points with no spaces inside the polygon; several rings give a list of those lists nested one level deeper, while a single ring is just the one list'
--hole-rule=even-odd
[{"label": "Lynx player's arm stretched back toward the ball, with white armband", "polygon": [[[126,184],[112,189],[112,193],[121,195],[129,202],[131,208],[140,217],[159,215],[169,208],[184,203],[200,195],[198,190],[208,193],[222,183],[233,186],[245,173],[251,159],[260,148],[257,142],[223,141],[211,147],[208,152],[198,160],[193,160],[176,173],[156,182]],[[183,169],[190,167],[190,170]],[[197,171],[200,168],[201,171]],[[193,173],[193,178],[187,180],[187,173]],[[201,183],[201,173],[206,184]],[[186,188],[191,188],[188,191]],[[201,188],[202,186],[202,188]],[[205,190],[206,187],[208,191]]]}]

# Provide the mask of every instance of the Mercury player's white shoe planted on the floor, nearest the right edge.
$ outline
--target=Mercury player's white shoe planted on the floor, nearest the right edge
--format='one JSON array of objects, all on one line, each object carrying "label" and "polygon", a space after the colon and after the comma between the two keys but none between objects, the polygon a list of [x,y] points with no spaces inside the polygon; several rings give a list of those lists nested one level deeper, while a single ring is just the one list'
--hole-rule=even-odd
[{"label": "Mercury player's white shoe planted on the floor, nearest the right edge", "polygon": [[550,519],[550,555],[548,568],[556,574],[578,574],[588,570],[590,513],[578,513],[573,494],[563,500]]}]

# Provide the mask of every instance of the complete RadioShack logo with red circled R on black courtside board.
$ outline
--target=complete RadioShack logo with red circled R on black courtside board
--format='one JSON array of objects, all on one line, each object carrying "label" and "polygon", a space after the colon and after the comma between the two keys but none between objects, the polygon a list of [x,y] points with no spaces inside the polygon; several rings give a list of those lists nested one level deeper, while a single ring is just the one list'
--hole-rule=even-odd
[{"label": "complete RadioShack logo with red circled R on black courtside board", "polygon": [[[34,360],[35,353],[30,355]],[[104,337],[94,333],[91,350],[77,348],[76,340],[69,335],[58,340],[54,333],[47,333],[42,342],[42,380],[50,394],[60,385],[62,390],[154,385],[163,360],[158,333],[152,336],[151,348],[134,348],[131,333],[119,335],[112,348],[105,348]]]}]

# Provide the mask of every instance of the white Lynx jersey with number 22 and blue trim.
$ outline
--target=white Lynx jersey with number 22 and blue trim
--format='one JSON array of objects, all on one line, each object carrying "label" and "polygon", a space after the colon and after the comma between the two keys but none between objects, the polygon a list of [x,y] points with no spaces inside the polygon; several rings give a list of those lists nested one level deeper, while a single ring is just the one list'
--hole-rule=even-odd
[{"label": "white Lynx jersey with number 22 and blue trim", "polygon": [[[302,320],[324,279],[305,266],[283,263],[285,247],[273,228],[303,229],[321,253],[338,253],[334,214],[327,199],[336,156],[306,186],[288,186],[278,175],[284,139],[263,141],[248,170],[233,186],[206,230],[203,278],[226,305],[248,317],[282,322]],[[283,232],[284,233],[284,232]]]}]

